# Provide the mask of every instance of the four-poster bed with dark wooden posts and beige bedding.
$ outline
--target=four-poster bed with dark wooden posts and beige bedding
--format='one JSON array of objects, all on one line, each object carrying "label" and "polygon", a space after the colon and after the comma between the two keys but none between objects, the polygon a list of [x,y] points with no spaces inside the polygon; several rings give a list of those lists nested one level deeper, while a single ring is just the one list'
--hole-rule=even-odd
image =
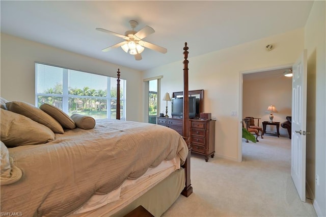
[{"label": "four-poster bed with dark wooden posts and beige bedding", "polygon": [[[188,95],[186,43],[183,49],[184,95]],[[117,111],[120,111],[119,78],[120,70]],[[184,97],[184,104],[188,104],[187,100]],[[14,111],[15,103],[7,105]],[[18,105],[21,107],[21,104]],[[32,129],[32,124],[39,127],[36,132],[46,143],[15,146],[13,141],[5,140],[3,143],[3,138],[6,139],[3,133],[11,133],[5,132],[12,123],[12,120],[5,122],[6,117],[8,114],[17,116],[11,111],[1,109],[2,213],[23,216],[123,216],[143,205],[153,215],[159,216],[180,193],[188,197],[193,192],[188,118],[183,119],[181,137],[168,127],[120,121],[119,112],[117,120],[96,120],[96,123],[90,117],[71,116],[77,125],[71,129],[67,129],[71,125],[68,116],[65,123],[60,122],[67,125],[64,132],[53,124],[48,126],[48,123],[38,122],[36,125],[19,114],[18,118],[24,118],[25,122],[17,122],[28,126],[25,127],[28,130]],[[64,115],[58,111],[55,114]],[[184,106],[184,114],[188,117],[187,106]],[[26,137],[31,134],[26,133]],[[3,178],[6,174],[7,177]]]}]

